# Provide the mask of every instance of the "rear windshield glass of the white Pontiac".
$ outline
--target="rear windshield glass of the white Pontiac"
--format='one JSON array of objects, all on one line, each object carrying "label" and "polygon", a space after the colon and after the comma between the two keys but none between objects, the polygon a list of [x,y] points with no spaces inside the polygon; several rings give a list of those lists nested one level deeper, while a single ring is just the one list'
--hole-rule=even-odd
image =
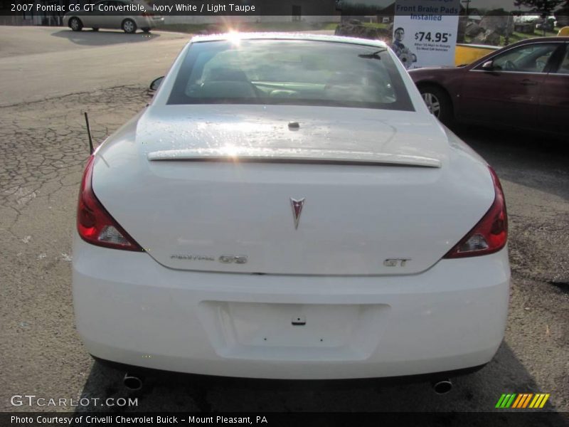
[{"label": "rear windshield glass of the white Pontiac", "polygon": [[413,111],[376,46],[303,40],[193,43],[169,104],[286,104]]}]

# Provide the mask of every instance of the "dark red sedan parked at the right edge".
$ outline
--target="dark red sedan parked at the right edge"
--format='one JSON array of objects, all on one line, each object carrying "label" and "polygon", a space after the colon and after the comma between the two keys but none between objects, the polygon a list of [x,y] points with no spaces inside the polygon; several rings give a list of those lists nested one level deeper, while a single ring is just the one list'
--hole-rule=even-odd
[{"label": "dark red sedan parked at the right edge", "polygon": [[409,74],[442,122],[569,135],[569,37],[531,38],[469,65]]}]

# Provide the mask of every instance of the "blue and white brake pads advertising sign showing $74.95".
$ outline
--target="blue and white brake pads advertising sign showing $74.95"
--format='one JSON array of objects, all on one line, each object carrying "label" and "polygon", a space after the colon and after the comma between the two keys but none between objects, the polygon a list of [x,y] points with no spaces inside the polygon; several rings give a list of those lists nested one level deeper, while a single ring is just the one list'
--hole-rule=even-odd
[{"label": "blue and white brake pads advertising sign showing $74.95", "polygon": [[459,0],[397,0],[391,48],[405,68],[454,65]]}]

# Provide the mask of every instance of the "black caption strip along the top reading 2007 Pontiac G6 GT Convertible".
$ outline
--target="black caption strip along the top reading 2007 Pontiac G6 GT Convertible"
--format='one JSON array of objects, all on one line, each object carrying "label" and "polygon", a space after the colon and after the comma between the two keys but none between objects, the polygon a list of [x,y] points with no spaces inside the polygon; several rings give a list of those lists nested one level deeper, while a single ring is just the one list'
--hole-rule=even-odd
[{"label": "black caption strip along the top reading 2007 Pontiac G6 GT Convertible", "polygon": [[[428,8],[434,3],[444,1],[422,0],[422,3]],[[292,20],[301,20],[302,16],[330,16],[337,19],[338,16],[363,18],[408,13],[397,10],[393,0],[0,0],[0,14],[13,16],[147,14],[148,16],[192,16],[194,19],[199,19],[200,16],[288,16]],[[567,17],[569,0],[461,1],[459,8],[451,14]]]}]

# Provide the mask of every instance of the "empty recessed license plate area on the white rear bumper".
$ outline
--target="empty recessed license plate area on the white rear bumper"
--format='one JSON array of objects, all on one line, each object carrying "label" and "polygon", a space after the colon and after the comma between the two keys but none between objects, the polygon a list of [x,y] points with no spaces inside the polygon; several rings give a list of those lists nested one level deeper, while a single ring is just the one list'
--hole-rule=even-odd
[{"label": "empty recessed license plate area on the white rear bumper", "polygon": [[223,357],[361,360],[377,347],[388,305],[201,302],[208,337]]}]

